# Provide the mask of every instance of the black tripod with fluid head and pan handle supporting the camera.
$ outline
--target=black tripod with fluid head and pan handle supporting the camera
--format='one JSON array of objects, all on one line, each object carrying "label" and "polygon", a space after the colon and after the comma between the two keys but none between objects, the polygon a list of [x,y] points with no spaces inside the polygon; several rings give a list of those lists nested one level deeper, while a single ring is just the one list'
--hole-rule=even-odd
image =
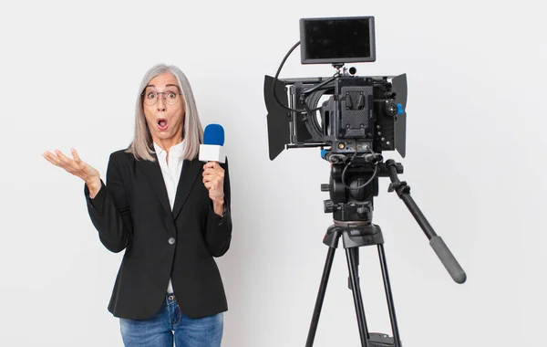
[{"label": "black tripod with fluid head and pan handle supporting the camera", "polygon": [[[375,166],[376,165],[376,166]],[[389,283],[387,272],[386,254],[384,251],[384,237],[380,226],[372,223],[373,196],[377,196],[377,177],[389,176],[389,192],[397,192],[397,195],[405,202],[412,216],[421,226],[429,239],[431,247],[449,271],[450,276],[457,283],[466,280],[466,274],[459,263],[449,251],[442,239],[435,234],[426,217],[421,213],[418,205],[409,195],[410,188],[406,182],[400,182],[397,174],[403,173],[403,166],[388,160],[386,163],[361,163],[348,170],[349,165],[333,164],[331,169],[330,184],[322,184],[322,191],[329,191],[332,200],[325,200],[325,213],[334,214],[335,224],[327,228],[323,243],[328,246],[323,276],[319,285],[315,309],[308,332],[305,346],[312,347],[315,340],[315,332],[323,301],[325,299],[326,285],[335,257],[335,249],[342,237],[346,249],[346,261],[349,272],[349,289],[353,292],[356,309],[356,319],[359,329],[361,346],[363,347],[402,347],[395,312],[395,304]],[[346,173],[347,171],[347,173]],[[369,174],[372,172],[371,174]],[[347,179],[345,180],[345,174]],[[363,184],[363,182],[366,182]],[[346,184],[348,183],[348,184]],[[370,184],[372,183],[372,184]],[[348,197],[349,196],[349,197]],[[359,247],[377,246],[380,268],[386,291],[387,308],[391,322],[392,336],[385,333],[369,332],[366,326],[365,309],[358,277]]]}]

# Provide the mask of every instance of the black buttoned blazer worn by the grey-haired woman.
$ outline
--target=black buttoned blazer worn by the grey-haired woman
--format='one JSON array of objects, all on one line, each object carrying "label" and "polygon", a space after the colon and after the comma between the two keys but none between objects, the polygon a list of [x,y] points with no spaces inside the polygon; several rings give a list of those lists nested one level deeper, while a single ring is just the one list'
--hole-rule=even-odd
[{"label": "black buttoned blazer worn by the grey-haired woman", "polygon": [[[155,156],[155,154],[154,154]],[[224,212],[212,210],[202,183],[203,162],[185,160],[173,210],[160,163],[135,160],[120,150],[110,154],[107,183],[101,180],[88,213],[102,244],[125,249],[108,310],[116,317],[147,319],[160,310],[172,280],[181,311],[192,317],[228,310],[219,269],[232,238],[230,177],[224,169]]]}]

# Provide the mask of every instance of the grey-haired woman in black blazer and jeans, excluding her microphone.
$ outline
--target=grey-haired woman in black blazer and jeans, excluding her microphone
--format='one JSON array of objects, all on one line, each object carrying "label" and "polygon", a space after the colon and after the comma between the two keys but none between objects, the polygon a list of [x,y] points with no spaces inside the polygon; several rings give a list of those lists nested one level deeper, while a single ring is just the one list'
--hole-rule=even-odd
[{"label": "grey-haired woman in black blazer and jeans, excluding her microphone", "polygon": [[226,296],[213,257],[230,247],[228,162],[201,163],[203,131],[191,86],[157,65],[139,88],[135,134],[112,152],[106,184],[75,149],[44,157],[84,180],[102,244],[125,249],[108,310],[128,347],[220,346]]}]

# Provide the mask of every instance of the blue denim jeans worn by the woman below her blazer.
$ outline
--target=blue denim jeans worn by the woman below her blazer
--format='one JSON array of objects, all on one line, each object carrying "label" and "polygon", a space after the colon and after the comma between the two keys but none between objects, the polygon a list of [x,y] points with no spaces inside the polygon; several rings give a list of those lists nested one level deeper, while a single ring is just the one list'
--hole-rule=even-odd
[{"label": "blue denim jeans worn by the woman below her blazer", "polygon": [[190,318],[182,314],[174,294],[167,294],[160,311],[148,320],[119,319],[126,347],[220,347],[223,314]]}]

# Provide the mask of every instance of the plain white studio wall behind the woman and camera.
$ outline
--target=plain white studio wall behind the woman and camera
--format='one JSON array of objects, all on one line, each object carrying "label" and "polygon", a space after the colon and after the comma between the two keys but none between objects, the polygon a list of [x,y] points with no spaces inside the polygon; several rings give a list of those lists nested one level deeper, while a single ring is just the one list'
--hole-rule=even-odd
[{"label": "plain white studio wall behind the woman and camera", "polygon": [[[511,5],[510,5],[511,4]],[[539,3],[538,3],[539,4]],[[338,6],[336,6],[338,5]],[[304,346],[332,216],[318,149],[268,157],[264,75],[303,17],[375,16],[377,62],[408,74],[408,155],[385,152],[466,270],[456,284],[407,207],[380,180],[382,227],[403,344],[511,346],[541,338],[547,146],[543,34],[532,1],[20,2],[0,13],[3,346],[121,346],[107,311],[122,253],[100,244],[83,182],[40,155],[77,148],[105,174],[129,144],[139,81],[158,62],[188,75],[204,125],[222,123],[232,177],[232,248],[217,259],[230,310],[223,346]],[[281,78],[331,76],[303,66]],[[391,334],[377,252],[361,249],[370,331]],[[338,247],[315,346],[359,345]]]}]

